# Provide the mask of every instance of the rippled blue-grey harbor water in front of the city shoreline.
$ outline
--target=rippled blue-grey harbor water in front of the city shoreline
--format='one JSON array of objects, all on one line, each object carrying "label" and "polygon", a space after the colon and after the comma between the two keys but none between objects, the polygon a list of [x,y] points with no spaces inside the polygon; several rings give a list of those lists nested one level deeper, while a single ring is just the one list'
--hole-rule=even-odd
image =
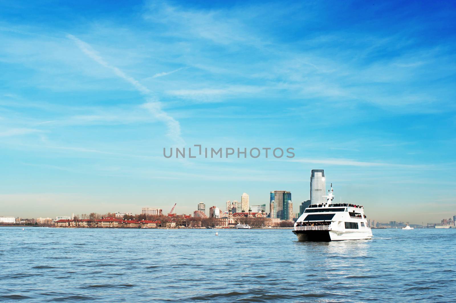
[{"label": "rippled blue-grey harbor water in front of the city shoreline", "polygon": [[3,227],[0,301],[454,301],[456,229],[373,235]]}]

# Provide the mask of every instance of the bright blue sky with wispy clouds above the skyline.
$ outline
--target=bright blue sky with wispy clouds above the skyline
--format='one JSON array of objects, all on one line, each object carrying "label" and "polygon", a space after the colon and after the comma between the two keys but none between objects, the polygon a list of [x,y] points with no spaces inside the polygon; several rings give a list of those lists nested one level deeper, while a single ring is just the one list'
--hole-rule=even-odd
[{"label": "bright blue sky with wispy clouds above the skyline", "polygon": [[[380,221],[456,214],[454,3],[0,1],[0,215],[189,214],[325,169]],[[166,159],[163,147],[293,147]]]}]

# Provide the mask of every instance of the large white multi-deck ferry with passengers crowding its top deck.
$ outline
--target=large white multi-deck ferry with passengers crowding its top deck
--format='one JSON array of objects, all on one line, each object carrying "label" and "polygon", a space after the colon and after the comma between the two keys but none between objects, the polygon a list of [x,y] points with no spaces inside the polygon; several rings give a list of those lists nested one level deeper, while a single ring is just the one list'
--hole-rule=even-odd
[{"label": "large white multi-deck ferry with passengers crowding its top deck", "polygon": [[338,203],[331,190],[328,190],[325,204],[311,204],[296,220],[293,233],[298,241],[341,241],[372,239],[372,230],[368,227],[364,207],[360,205]]}]

